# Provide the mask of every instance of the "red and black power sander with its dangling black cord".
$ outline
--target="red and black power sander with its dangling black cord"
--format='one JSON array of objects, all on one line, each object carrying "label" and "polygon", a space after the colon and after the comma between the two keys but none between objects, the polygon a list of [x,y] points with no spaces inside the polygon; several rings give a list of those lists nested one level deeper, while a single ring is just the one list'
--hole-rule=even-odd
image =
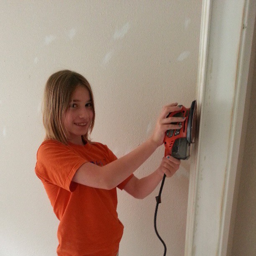
[{"label": "red and black power sander with its dangling black cord", "polygon": [[[175,130],[168,130],[165,133],[164,137],[164,156],[173,156],[177,159],[189,159],[190,156],[190,144],[195,143],[196,134],[197,134],[197,102],[194,100],[190,106],[190,108],[185,108],[180,105],[182,108],[179,111],[174,111],[169,113],[168,117],[185,117],[186,119],[183,122],[176,123],[182,125],[182,128]],[[164,174],[161,187],[159,190],[159,195],[156,197],[156,210],[154,217],[154,227],[156,231],[156,235],[159,240],[164,245],[164,256],[166,255],[166,245],[162,238],[159,236],[159,233],[156,229],[156,215],[158,210],[158,205],[161,203],[161,193],[164,186],[164,180],[166,175]]]}]

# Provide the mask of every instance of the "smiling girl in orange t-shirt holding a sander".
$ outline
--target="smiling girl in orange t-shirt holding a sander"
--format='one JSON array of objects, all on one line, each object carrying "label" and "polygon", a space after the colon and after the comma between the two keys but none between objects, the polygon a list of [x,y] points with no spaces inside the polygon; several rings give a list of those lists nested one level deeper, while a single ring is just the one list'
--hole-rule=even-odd
[{"label": "smiling girl in orange t-shirt holding a sander", "polygon": [[166,118],[179,110],[177,103],[162,108],[153,134],[129,154],[117,159],[101,143],[90,141],[95,120],[92,90],[87,80],[69,70],[49,77],[44,92],[46,138],[38,149],[35,172],[44,184],[54,213],[61,256],[116,256],[123,235],[118,220],[116,187],[144,198],[163,175],[171,177],[180,160],[164,157],[155,172],[138,179],[133,172],[161,146],[172,123]]}]

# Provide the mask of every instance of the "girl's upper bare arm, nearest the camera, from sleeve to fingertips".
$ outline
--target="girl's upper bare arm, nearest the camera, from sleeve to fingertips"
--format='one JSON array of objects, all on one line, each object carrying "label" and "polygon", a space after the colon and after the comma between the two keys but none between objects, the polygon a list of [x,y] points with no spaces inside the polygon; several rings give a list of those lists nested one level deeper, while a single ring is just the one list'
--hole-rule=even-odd
[{"label": "girl's upper bare arm, nearest the camera, from sleeve to fingertips", "polygon": [[167,130],[180,128],[172,123],[180,122],[181,118],[166,118],[170,112],[175,110],[179,110],[177,103],[165,106],[157,120],[152,136],[133,151],[102,167],[85,163],[77,170],[72,181],[103,189],[116,187],[135,172],[158,146],[161,146]]}]

